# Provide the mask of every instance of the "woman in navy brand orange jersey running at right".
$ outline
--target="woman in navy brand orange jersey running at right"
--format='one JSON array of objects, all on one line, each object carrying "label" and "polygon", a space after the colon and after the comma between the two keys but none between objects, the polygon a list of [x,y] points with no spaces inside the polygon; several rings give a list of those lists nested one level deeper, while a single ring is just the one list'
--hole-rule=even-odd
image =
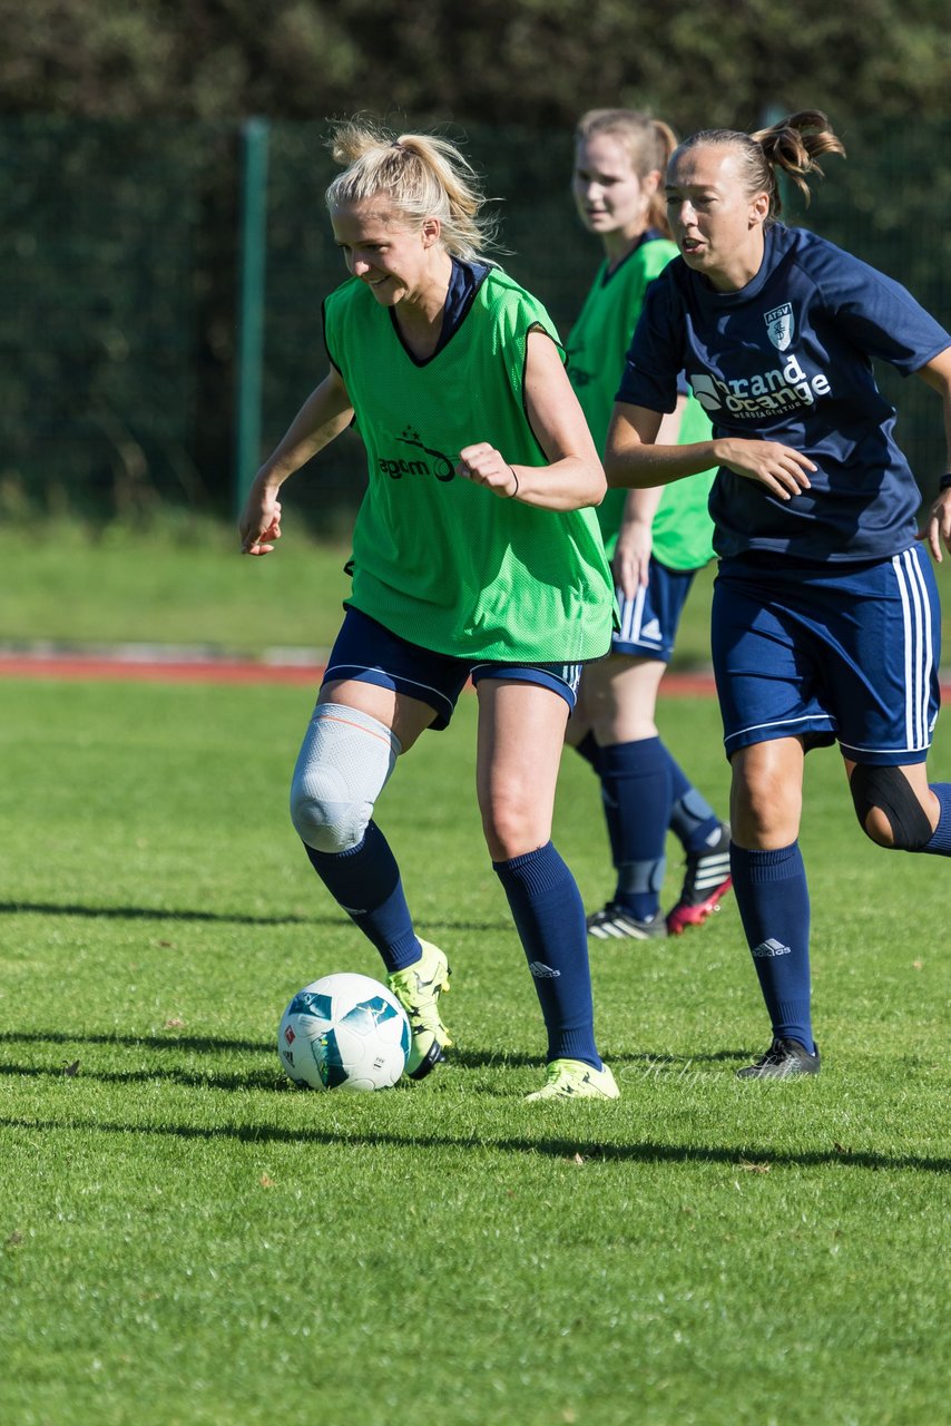
[{"label": "woman in navy brand orange jersey running at right", "polygon": [[[647,294],[606,455],[609,483],[632,488],[719,466],[713,659],[730,861],[773,1027],[743,1078],[820,1068],[797,840],[804,754],[838,742],[873,841],[951,856],[951,784],[930,784],[925,767],[940,610],[921,549],[938,560],[951,549],[951,473],[918,529],[920,492],[871,365],[937,391],[951,442],[951,337],[897,282],[776,221],[777,170],[807,194],[827,153],[843,145],[816,111],[754,134],[706,130],[676,150],[666,195],[680,257]],[[682,371],[713,439],[657,443]]]}]

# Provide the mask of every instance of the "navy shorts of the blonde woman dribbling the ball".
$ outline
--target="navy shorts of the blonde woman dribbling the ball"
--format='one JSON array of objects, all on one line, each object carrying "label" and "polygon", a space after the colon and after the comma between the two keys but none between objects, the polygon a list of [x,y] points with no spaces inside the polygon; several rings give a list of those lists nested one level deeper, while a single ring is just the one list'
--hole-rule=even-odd
[{"label": "navy shorts of the blonde woman dribbling the ball", "polygon": [[473,683],[480,679],[538,683],[563,697],[570,712],[577,699],[582,667],[580,663],[485,663],[455,659],[409,643],[359,609],[351,607],[331,649],[324,683],[355,679],[358,683],[375,683],[381,689],[419,699],[435,709],[436,717],[431,727],[439,732],[449,726],[456,700],[469,679]]}]

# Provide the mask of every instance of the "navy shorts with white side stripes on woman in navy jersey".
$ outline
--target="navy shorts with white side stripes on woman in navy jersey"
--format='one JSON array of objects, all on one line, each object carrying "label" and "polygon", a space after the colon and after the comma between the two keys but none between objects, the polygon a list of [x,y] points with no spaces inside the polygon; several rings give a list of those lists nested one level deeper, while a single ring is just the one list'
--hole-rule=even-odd
[{"label": "navy shorts with white side stripes on woman in navy jersey", "polygon": [[922,763],[938,716],[941,615],[918,548],[865,565],[723,560],[713,666],[727,756],[774,737]]}]

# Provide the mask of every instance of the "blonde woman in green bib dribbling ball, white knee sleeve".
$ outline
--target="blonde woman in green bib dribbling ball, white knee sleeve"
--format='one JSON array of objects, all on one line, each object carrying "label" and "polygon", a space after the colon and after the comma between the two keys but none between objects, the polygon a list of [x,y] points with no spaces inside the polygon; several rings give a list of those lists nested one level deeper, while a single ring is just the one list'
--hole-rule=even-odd
[{"label": "blonde woman in green bib dribbling ball, white knee sleeve", "polygon": [[476,791],[548,1032],[529,1098],[617,1097],[595,1042],[585,911],[552,846],[582,665],[607,652],[606,489],[545,308],[483,257],[490,224],[441,138],[335,127],[327,193],[349,279],[324,304],[329,369],[258,472],[242,550],[281,533],[278,492],[355,421],[369,486],[354,585],[291,787],[331,896],[382,955],[412,1028],[411,1078],[452,1044],[445,953],[419,940],[374,807],[396,760],[472,679]]}]

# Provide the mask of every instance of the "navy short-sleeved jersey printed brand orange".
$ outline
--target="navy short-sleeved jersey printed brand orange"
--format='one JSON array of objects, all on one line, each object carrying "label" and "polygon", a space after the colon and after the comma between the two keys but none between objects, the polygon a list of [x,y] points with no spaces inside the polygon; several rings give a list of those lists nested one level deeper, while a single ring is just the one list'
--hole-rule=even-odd
[{"label": "navy short-sleeved jersey printed brand orange", "polygon": [[920,503],[871,358],[903,375],[951,337],[898,282],[801,228],[771,224],[760,271],[717,292],[676,258],[647,294],[617,399],[673,411],[677,374],[717,436],[780,441],[816,462],[781,501],[720,469],[710,493],[720,556],[771,550],[811,562],[907,549]]}]

